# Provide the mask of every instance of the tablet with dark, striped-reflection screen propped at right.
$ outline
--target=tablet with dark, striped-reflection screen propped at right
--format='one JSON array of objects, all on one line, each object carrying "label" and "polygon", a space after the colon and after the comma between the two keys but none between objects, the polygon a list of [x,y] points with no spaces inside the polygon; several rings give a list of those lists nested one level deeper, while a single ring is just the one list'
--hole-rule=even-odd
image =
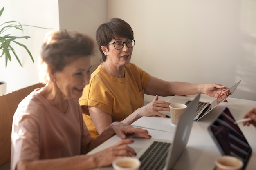
[{"label": "tablet with dark, striped-reflection screen propped at right", "polygon": [[240,158],[245,170],[252,155],[252,148],[245,139],[230,110],[225,107],[216,119],[208,126],[208,131],[220,150],[221,155],[232,155]]}]

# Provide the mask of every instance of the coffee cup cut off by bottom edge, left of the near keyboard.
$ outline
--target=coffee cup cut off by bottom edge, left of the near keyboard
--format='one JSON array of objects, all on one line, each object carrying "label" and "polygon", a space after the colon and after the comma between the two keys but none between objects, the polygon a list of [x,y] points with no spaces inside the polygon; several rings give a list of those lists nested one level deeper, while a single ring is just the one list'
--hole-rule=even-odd
[{"label": "coffee cup cut off by bottom edge, left of the near keyboard", "polygon": [[139,170],[140,161],[135,157],[122,157],[115,159],[112,166],[114,170]]}]

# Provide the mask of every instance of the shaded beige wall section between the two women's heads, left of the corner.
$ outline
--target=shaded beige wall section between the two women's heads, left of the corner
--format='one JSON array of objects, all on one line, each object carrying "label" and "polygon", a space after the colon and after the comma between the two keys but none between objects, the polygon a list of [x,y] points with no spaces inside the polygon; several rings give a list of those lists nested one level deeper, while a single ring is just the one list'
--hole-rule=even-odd
[{"label": "shaded beige wall section between the two women's heads, left of the corner", "polygon": [[[98,26],[107,21],[105,0],[59,0],[60,29],[74,30],[90,35],[95,43],[92,65],[102,62],[101,53],[95,40]],[[97,66],[93,66],[92,69]]]}]

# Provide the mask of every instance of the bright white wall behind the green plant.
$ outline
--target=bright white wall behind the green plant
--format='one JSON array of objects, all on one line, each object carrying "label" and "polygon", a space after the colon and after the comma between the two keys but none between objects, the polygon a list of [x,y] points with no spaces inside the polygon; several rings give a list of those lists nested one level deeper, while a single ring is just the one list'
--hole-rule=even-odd
[{"label": "bright white wall behind the green plant", "polygon": [[[0,23],[6,21],[18,21],[21,24],[41,26],[51,29],[38,29],[24,26],[24,33],[17,32],[17,36],[30,36],[28,40],[21,40],[34,56],[34,64],[29,55],[22,49],[16,48],[16,53],[21,59],[23,68],[18,64],[15,57],[8,62],[5,68],[5,56],[0,58],[0,79],[7,82],[7,92],[36,84],[38,77],[38,57],[45,33],[52,29],[59,29],[58,0],[0,0],[0,8],[4,7]],[[13,32],[11,32],[13,33]]]}]

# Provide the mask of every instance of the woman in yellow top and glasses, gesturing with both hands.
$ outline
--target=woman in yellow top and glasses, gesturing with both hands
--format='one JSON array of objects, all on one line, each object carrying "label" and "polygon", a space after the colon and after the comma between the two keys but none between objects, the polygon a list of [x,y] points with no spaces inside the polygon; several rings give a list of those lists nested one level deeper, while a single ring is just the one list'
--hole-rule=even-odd
[{"label": "woman in yellow top and glasses, gesturing with both hands", "polygon": [[[158,101],[158,95],[204,93],[218,97],[229,90],[220,84],[164,81],[130,63],[135,40],[130,25],[120,18],[101,24],[96,40],[104,62],[92,73],[79,99],[83,119],[93,137],[114,121],[132,124],[142,116],[168,117],[159,111],[168,111],[170,103]],[[155,95],[145,106],[144,93]]]}]

